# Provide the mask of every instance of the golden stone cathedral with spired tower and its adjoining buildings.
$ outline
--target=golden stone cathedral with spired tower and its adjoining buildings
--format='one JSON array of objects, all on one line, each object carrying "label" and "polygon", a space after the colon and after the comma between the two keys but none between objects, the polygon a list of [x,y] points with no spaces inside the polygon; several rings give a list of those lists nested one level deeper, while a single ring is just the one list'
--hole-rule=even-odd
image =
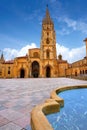
[{"label": "golden stone cathedral with spired tower and its adjoining buildings", "polygon": [[50,17],[48,7],[42,20],[42,34],[40,48],[29,49],[26,56],[16,57],[5,61],[0,57],[0,78],[46,78],[72,77],[87,74],[87,39],[86,57],[69,64],[57,56],[56,33],[54,23]]}]

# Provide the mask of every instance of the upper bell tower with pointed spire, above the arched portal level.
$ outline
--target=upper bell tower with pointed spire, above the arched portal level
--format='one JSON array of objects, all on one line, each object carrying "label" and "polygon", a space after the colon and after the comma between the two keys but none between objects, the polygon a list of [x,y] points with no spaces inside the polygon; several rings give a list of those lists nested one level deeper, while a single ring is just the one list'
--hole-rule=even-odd
[{"label": "upper bell tower with pointed spire, above the arched portal level", "polygon": [[48,6],[42,21],[41,59],[57,59],[54,23],[50,17]]}]

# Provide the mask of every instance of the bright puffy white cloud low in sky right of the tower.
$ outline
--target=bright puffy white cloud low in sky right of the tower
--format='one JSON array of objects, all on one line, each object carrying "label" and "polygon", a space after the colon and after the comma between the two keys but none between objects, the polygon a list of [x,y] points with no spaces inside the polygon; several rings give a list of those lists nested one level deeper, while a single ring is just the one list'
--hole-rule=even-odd
[{"label": "bright puffy white cloud low in sky right of the tower", "polygon": [[63,59],[69,63],[75,62],[85,57],[85,46],[69,49],[57,43],[57,55],[62,54]]}]

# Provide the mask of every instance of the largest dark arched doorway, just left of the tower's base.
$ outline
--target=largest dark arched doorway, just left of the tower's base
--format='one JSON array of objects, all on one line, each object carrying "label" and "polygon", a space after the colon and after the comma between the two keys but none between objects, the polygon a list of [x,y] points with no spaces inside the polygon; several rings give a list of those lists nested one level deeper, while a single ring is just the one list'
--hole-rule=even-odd
[{"label": "largest dark arched doorway, just left of the tower's base", "polygon": [[32,63],[32,76],[34,78],[38,78],[39,77],[39,63],[37,61],[34,61]]}]

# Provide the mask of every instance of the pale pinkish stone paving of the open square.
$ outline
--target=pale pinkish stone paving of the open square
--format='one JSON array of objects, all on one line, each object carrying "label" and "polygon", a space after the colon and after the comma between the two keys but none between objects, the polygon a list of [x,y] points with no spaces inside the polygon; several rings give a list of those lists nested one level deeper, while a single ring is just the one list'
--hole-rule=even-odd
[{"label": "pale pinkish stone paving of the open square", "polygon": [[87,81],[69,78],[0,79],[0,130],[31,130],[30,112],[50,97],[50,92],[66,85]]}]

